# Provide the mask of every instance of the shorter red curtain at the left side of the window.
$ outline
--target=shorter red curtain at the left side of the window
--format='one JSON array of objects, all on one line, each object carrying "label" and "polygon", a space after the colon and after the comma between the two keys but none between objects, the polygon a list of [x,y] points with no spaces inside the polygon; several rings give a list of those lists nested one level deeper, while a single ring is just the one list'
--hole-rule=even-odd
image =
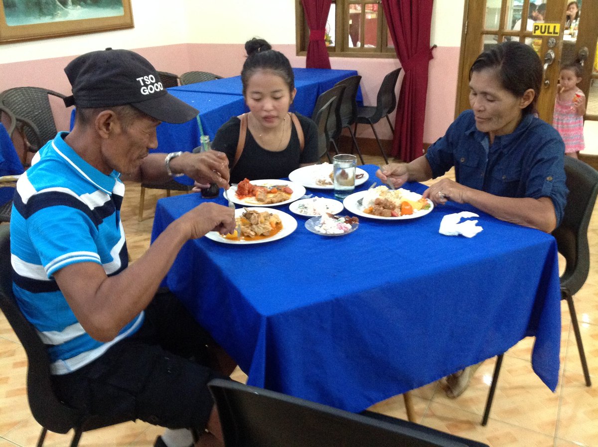
[{"label": "shorter red curtain at the left side of the window", "polygon": [[309,26],[309,44],[307,45],[306,68],[330,68],[330,59],[324,35],[330,11],[331,0],[301,0],[307,26]]}]

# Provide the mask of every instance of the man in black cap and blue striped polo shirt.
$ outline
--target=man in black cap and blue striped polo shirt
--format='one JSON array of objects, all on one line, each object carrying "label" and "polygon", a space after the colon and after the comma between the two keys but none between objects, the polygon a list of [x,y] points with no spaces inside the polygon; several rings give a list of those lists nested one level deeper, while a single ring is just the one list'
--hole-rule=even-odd
[{"label": "man in black cap and blue striped polo shirt", "polygon": [[[60,399],[91,414],[192,428],[217,444],[222,434],[206,384],[228,376],[234,362],[171,294],[154,294],[182,245],[211,230],[232,232],[234,212],[202,203],[129,266],[120,175],[165,181],[187,174],[227,187],[227,158],[218,151],[148,154],[161,121],[183,123],[197,110],[169,95],[139,54],[94,51],[65,72],[73,93],[65,103],[77,106],[74,128],[42,147],[17,184],[17,301],[48,346]],[[157,445],[164,445],[160,437]]]}]

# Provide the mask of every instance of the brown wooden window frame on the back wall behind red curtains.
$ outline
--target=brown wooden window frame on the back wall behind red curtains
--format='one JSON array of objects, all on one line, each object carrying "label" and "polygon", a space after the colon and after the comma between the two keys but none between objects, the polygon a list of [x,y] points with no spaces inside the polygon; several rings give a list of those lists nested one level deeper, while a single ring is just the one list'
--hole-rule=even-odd
[{"label": "brown wooden window frame on the back wall behind red curtains", "polygon": [[[392,40],[389,36],[388,25],[381,0],[332,0],[335,4],[335,42],[334,45],[327,47],[329,57],[370,57],[396,59],[395,48],[388,47],[388,42]],[[349,5],[362,5],[362,14],[365,14],[366,4],[377,4],[377,42],[376,48],[352,48],[344,42],[349,41]],[[347,18],[347,20],[345,20]],[[359,35],[364,35],[364,20],[359,24]],[[337,42],[341,36],[341,45]],[[297,56],[307,55],[307,45],[309,44],[309,27],[305,19],[305,12],[301,0],[295,0],[295,44],[297,47]]]}]

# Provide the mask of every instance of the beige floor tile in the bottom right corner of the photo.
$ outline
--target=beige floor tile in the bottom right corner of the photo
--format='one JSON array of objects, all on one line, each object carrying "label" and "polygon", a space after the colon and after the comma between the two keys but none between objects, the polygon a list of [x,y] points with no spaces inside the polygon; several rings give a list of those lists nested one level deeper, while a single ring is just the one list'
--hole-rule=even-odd
[{"label": "beige floor tile in the bottom right corner of the photo", "polygon": [[586,387],[581,373],[565,372],[556,437],[588,446],[598,445],[598,376]]}]

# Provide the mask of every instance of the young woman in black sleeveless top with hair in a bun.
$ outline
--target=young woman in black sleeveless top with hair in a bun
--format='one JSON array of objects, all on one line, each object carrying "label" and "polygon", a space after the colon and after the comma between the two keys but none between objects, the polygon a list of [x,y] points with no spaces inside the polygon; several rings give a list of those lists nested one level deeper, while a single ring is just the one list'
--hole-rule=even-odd
[{"label": "young woman in black sleeveless top with hair in a bun", "polygon": [[[297,90],[286,56],[272,50],[264,39],[249,40],[245,50],[241,81],[249,112],[222,124],[212,147],[227,155],[233,183],[244,178],[288,177],[295,169],[318,161],[316,124],[311,118],[289,113]],[[237,148],[243,121],[245,144]]]}]

